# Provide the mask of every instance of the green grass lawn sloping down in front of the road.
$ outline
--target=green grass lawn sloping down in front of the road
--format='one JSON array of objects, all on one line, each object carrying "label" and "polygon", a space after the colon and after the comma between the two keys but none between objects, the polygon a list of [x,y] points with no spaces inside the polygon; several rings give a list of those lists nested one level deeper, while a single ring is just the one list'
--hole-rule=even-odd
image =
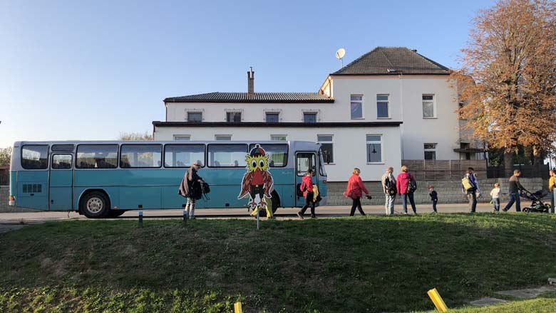
[{"label": "green grass lawn sloping down in front of the road", "polygon": [[[433,309],[432,287],[458,307],[556,277],[556,215],[254,226],[67,221],[0,234],[0,312],[232,312],[236,299],[244,312],[402,312]],[[556,312],[554,297],[505,305],[518,304],[527,309],[491,312]],[[528,309],[536,305],[552,309]]]}]

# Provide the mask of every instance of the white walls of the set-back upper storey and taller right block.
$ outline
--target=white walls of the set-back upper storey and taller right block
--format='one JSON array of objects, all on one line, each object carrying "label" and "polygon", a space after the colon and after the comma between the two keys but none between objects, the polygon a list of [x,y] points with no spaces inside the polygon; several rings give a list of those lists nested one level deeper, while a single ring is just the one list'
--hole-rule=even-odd
[{"label": "white walls of the set-back upper storey and taller right block", "polygon": [[[242,110],[243,122],[264,122],[265,110],[280,112],[280,122],[302,122],[304,110],[318,112],[319,122],[401,121],[402,159],[423,159],[425,143],[437,144],[436,159],[459,159],[453,152],[459,148],[458,100],[447,75],[332,76],[331,86],[334,103],[170,102],[168,122],[183,122],[186,110],[195,109],[202,110],[204,122],[224,122],[226,110],[233,109]],[[364,96],[364,119],[351,120],[350,95],[354,94]],[[388,119],[376,117],[377,94],[390,95]],[[435,95],[436,118],[423,119],[423,94]]]}]

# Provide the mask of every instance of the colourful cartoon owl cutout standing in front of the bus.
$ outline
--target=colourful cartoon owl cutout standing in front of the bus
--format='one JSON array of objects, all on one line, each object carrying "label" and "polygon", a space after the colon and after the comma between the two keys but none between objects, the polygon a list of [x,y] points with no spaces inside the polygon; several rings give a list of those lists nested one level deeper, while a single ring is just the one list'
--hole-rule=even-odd
[{"label": "colourful cartoon owl cutout standing in front of the bus", "polygon": [[247,172],[243,175],[242,191],[238,199],[249,196],[249,209],[255,216],[260,209],[267,210],[267,217],[272,218],[272,208],[269,208],[270,193],[274,190],[274,181],[269,170],[269,156],[260,144],[255,144],[245,157]]}]

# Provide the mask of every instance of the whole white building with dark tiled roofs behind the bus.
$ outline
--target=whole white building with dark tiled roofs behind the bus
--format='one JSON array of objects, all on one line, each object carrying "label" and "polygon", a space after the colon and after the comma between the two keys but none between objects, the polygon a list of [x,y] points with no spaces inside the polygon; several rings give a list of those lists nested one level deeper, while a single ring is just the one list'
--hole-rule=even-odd
[{"label": "whole white building with dark tiled roofs behind the bus", "polygon": [[449,73],[416,51],[386,47],[331,73],[319,92],[254,92],[249,71],[248,92],[166,98],[154,138],[321,142],[329,181],[346,181],[354,167],[376,181],[402,159],[470,157]]}]

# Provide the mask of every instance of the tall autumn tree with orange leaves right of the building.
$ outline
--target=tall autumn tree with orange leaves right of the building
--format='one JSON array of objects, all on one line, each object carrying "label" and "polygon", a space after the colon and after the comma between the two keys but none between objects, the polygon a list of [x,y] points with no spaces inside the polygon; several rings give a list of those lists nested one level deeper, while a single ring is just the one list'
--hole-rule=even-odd
[{"label": "tall autumn tree with orange leaves right of the building", "polygon": [[542,159],[556,149],[556,3],[501,0],[473,20],[461,68],[453,72],[460,116],[476,137]]}]

